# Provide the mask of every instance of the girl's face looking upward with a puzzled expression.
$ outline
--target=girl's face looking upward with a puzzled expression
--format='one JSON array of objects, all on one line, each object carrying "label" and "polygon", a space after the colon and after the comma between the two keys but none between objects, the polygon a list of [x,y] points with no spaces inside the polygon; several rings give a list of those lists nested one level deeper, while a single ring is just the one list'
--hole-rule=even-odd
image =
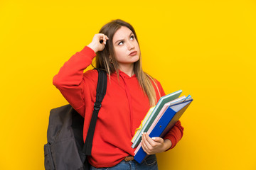
[{"label": "girl's face looking upward with a puzzled expression", "polygon": [[139,60],[139,44],[134,33],[122,26],[113,36],[114,55],[119,67],[132,65]]}]

